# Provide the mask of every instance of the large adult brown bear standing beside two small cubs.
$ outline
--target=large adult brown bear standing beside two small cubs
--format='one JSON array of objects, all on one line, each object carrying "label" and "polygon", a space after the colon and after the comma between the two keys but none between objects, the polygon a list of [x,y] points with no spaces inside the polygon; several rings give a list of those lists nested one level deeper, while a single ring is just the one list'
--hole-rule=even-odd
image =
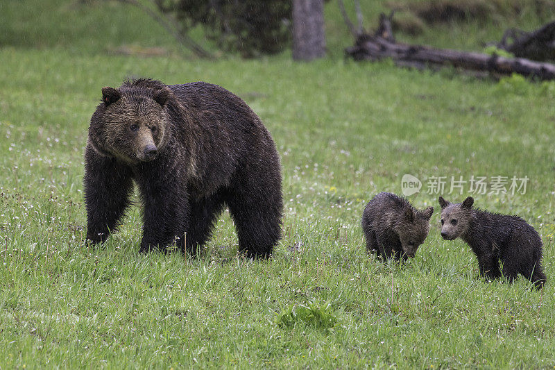
[{"label": "large adult brown bear standing beside two small cubs", "polygon": [[103,242],[130,204],[144,207],[140,251],[196,253],[226,205],[239,250],[268,257],[281,236],[282,176],[272,137],[228,90],[209,83],[104,87],[85,148],[87,239]]}]

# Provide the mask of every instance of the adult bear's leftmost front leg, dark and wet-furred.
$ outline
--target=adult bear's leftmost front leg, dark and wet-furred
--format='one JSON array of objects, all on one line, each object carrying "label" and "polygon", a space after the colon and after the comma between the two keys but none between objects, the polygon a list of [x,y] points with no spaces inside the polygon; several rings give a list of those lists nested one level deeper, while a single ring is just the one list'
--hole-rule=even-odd
[{"label": "adult bear's leftmost front leg, dark and wet-furred", "polygon": [[131,171],[115,158],[99,155],[90,145],[85,148],[83,178],[87,208],[87,240],[104,242],[129,205],[133,189]]}]

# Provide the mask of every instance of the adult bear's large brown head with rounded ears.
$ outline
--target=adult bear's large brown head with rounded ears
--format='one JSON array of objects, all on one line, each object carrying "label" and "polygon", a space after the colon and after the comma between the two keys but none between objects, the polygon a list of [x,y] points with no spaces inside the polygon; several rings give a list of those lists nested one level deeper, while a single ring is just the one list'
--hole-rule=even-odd
[{"label": "adult bear's large brown head with rounded ears", "polygon": [[164,144],[165,107],[171,95],[162,84],[144,87],[137,81],[118,89],[103,87],[89,142],[97,151],[130,164],[154,160]]}]

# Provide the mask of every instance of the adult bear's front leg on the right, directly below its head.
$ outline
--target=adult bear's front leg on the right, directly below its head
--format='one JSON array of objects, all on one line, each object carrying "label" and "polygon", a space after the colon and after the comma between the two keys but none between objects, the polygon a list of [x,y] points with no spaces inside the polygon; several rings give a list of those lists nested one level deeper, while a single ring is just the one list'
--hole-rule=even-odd
[{"label": "adult bear's front leg on the right, directly below its head", "polygon": [[[176,173],[139,178],[143,210],[143,238],[139,252],[166,251],[185,242],[188,225],[187,184]],[[179,239],[178,239],[179,238]]]}]

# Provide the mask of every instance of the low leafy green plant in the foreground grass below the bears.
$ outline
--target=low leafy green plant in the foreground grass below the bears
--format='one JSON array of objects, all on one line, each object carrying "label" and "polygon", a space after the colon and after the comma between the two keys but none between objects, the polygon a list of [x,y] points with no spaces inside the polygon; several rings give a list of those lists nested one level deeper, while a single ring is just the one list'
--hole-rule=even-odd
[{"label": "low leafy green plant in the foreground grass below the bears", "polygon": [[332,314],[330,303],[318,305],[311,302],[308,305],[289,305],[275,317],[279,326],[296,326],[298,323],[316,326],[328,330],[335,326],[337,318]]}]

